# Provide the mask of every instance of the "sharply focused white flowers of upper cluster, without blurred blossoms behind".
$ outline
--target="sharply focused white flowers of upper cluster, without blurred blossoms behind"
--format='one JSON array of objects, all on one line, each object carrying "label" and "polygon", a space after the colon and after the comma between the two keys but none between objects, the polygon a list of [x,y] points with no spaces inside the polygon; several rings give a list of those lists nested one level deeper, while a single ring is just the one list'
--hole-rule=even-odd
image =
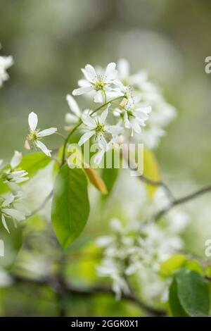
[{"label": "sharply focused white flowers of upper cluster, without blurred blossoms behind", "polygon": [[[132,136],[134,132],[141,132],[151,113],[151,106],[142,101],[141,94],[121,82],[115,63],[109,63],[106,70],[96,70],[87,64],[82,73],[84,79],[79,80],[79,88],[74,89],[72,94],[87,94],[102,105],[95,110],[81,111],[75,99],[68,94],[67,101],[72,113],[66,114],[66,122],[68,125],[81,123],[82,129],[87,131],[79,139],[79,146],[94,137],[100,150],[96,160],[100,163],[103,154],[113,147],[118,137],[126,134],[125,130],[128,129]],[[96,116],[96,111],[101,110],[101,115]]]}]

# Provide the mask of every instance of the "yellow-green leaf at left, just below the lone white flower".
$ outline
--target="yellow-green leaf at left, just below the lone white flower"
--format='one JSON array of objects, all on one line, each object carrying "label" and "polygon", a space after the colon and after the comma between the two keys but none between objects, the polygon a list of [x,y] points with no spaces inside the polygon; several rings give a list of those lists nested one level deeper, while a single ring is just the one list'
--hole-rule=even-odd
[{"label": "yellow-green leaf at left, just below the lone white flower", "polygon": [[30,153],[23,156],[19,167],[26,170],[29,177],[35,175],[39,170],[45,168],[51,162],[51,158],[46,156],[44,153]]}]

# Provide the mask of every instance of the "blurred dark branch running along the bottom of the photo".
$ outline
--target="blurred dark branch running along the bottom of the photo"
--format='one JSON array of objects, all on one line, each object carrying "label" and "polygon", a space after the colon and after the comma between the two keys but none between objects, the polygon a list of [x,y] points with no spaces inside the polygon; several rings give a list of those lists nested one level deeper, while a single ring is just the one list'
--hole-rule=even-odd
[{"label": "blurred dark branch running along the bottom of the photo", "polygon": [[[47,285],[50,286],[56,294],[60,294],[60,292],[63,292],[65,294],[75,294],[77,296],[94,296],[96,294],[110,294],[114,295],[113,290],[110,287],[101,287],[101,286],[95,286],[95,287],[75,287],[75,285],[71,285],[67,282],[60,282],[58,278],[53,277],[46,277],[43,279],[32,279],[25,276],[20,275],[13,275],[13,280],[16,284],[25,284],[29,283],[32,285]],[[166,311],[162,311],[161,309],[156,309],[151,306],[148,306],[147,304],[144,304],[142,301],[136,298],[133,294],[122,294],[122,299],[131,301],[133,304],[136,304],[136,306],[139,306],[139,308],[143,309],[148,313],[149,316],[165,316]]]}]

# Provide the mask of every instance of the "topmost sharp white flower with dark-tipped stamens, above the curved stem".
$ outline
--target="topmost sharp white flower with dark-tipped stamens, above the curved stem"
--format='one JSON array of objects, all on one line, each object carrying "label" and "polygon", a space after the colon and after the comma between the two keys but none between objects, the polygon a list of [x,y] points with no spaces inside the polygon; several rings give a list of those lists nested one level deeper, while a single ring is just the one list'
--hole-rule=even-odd
[{"label": "topmost sharp white flower with dark-tipped stamens, above the curved stem", "polygon": [[94,67],[87,64],[82,73],[85,80],[79,80],[79,89],[74,89],[73,95],[87,94],[94,92],[94,102],[103,102],[110,93],[117,93],[122,95],[119,89],[115,89],[115,79],[117,77],[117,70],[115,63],[108,63],[104,75],[98,75]]}]

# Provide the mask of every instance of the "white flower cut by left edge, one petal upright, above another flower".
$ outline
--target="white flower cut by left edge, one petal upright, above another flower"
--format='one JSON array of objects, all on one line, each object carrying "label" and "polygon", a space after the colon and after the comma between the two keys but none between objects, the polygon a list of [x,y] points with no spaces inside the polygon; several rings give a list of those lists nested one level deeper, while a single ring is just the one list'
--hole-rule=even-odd
[{"label": "white flower cut by left edge, one petal upright, above another flower", "polygon": [[11,159],[9,168],[6,167],[5,170],[2,171],[0,178],[4,183],[15,182],[16,184],[19,184],[29,179],[29,177],[25,177],[28,174],[27,171],[22,169],[16,169],[20,164],[21,160],[22,154],[19,151],[15,151],[13,158]]}]

